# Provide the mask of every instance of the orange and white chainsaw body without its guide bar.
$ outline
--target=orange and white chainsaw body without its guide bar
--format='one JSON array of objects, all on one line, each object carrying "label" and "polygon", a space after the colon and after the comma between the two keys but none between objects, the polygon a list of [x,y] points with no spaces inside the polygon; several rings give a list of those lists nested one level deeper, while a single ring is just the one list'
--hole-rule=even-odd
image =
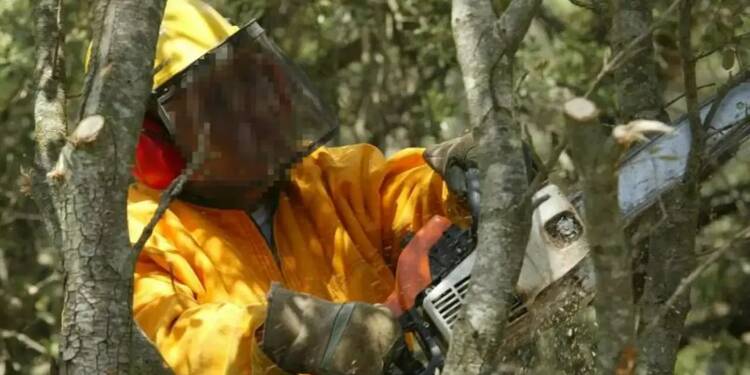
[{"label": "orange and white chainsaw body without its guide bar", "polygon": [[[535,199],[543,197],[546,200],[532,216],[531,233],[512,308],[516,314],[511,319],[522,315],[523,304],[533,300],[538,292],[573,268],[588,249],[581,243],[583,225],[580,218],[560,190],[555,185],[547,185],[536,194]],[[421,362],[425,364],[416,373],[425,375],[434,374],[442,367],[444,353],[450,346],[451,329],[465,303],[476,260],[476,236],[473,231],[455,225],[446,228],[446,221],[444,218],[433,218],[428,222],[409,242],[398,264],[398,269],[412,271],[404,275],[397,272],[397,282],[408,285],[397,288],[402,294],[401,301],[406,301],[402,306],[407,307],[400,321],[404,331],[412,334],[419,343],[416,351],[420,353],[415,353],[415,356],[421,356]],[[420,245],[428,243],[423,237],[430,237],[425,236],[425,232],[430,231],[441,233],[428,251],[411,246],[420,241]],[[431,237],[435,237],[434,233]],[[410,256],[416,253],[419,253],[419,257]],[[416,258],[419,258],[419,264],[414,262]],[[429,277],[422,274],[422,279],[415,281],[414,274],[418,274],[420,269],[424,270],[425,263],[429,268]],[[421,288],[415,293],[419,286]],[[407,291],[406,295],[404,291]],[[408,294],[410,291],[411,294]],[[415,373],[414,362],[404,362],[411,362],[410,370],[402,370],[401,373]]]}]

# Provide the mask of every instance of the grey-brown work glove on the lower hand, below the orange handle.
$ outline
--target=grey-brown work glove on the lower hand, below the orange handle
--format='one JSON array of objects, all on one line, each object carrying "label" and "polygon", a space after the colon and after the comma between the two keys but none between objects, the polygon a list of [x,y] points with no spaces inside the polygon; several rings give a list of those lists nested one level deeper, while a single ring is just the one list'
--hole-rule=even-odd
[{"label": "grey-brown work glove on the lower hand, below the orange handle", "polygon": [[388,366],[401,328],[368,303],[332,303],[271,286],[261,348],[283,370],[316,375],[376,375]]}]

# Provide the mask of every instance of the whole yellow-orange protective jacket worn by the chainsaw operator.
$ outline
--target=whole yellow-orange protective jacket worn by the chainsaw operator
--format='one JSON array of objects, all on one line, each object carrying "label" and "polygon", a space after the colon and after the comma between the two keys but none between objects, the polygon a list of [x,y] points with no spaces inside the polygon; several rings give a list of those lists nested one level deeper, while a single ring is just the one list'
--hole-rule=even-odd
[{"label": "whole yellow-orange protective jacket worn by the chainsaw operator", "polygon": [[[273,217],[278,260],[243,211],[173,202],[136,265],[136,321],[177,374],[280,373],[254,338],[272,281],[335,302],[383,302],[403,235],[435,214],[456,217],[422,151],[386,160],[353,145],[305,158]],[[131,241],[159,194],[130,188]]]}]

